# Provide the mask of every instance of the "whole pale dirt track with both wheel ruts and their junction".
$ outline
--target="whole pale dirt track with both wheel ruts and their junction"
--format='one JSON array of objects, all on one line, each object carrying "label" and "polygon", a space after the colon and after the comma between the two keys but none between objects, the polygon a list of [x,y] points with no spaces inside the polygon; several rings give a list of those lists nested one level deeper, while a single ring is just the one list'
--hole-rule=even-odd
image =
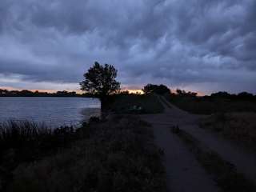
[{"label": "whole pale dirt track with both wheel ruts and their junction", "polygon": [[[164,98],[162,98],[164,99]],[[198,119],[202,115],[189,114],[178,107],[162,102],[165,113],[142,115],[152,123],[158,146],[166,151],[166,170],[168,184],[172,191],[217,191],[209,176],[202,170],[186,146],[170,132],[170,126],[180,129],[197,138],[200,142],[217,152],[221,158],[236,166],[238,172],[256,183],[256,154],[241,149],[234,143],[220,138],[207,130],[198,127]],[[207,188],[208,187],[208,188]]]}]

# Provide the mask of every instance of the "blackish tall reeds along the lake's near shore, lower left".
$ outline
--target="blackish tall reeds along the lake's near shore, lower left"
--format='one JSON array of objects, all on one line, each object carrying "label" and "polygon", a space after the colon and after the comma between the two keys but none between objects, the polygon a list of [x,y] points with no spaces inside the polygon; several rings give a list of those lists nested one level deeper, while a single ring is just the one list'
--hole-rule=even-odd
[{"label": "blackish tall reeds along the lake's near shore, lower left", "polygon": [[9,121],[0,124],[0,190],[21,163],[34,162],[76,138],[73,127],[50,129],[45,124]]}]

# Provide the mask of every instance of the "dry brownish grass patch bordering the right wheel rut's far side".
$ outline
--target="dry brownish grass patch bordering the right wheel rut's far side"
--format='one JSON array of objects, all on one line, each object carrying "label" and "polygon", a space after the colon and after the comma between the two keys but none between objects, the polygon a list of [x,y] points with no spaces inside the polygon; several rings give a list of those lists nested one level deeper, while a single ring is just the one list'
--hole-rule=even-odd
[{"label": "dry brownish grass patch bordering the right wheel rut's far side", "polygon": [[214,114],[204,118],[200,126],[256,150],[256,113]]}]

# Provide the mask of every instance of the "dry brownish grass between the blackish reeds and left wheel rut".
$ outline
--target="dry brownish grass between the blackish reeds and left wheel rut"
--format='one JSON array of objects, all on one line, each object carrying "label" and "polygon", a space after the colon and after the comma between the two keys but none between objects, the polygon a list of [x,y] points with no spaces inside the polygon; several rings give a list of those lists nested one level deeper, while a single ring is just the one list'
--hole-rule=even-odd
[{"label": "dry brownish grass between the blackish reeds and left wheel rut", "polygon": [[90,122],[74,135],[66,148],[16,166],[6,191],[166,190],[160,152],[139,118]]}]

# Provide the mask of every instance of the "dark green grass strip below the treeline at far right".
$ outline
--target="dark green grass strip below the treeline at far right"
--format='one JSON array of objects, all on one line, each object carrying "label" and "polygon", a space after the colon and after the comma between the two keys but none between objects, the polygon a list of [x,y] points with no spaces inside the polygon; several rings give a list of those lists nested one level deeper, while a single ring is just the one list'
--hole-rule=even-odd
[{"label": "dark green grass strip below the treeline at far right", "polygon": [[186,110],[192,114],[214,114],[226,112],[256,112],[256,102],[230,100],[225,98],[200,98],[186,97],[178,95],[167,95],[166,99],[174,103],[182,110]]}]

